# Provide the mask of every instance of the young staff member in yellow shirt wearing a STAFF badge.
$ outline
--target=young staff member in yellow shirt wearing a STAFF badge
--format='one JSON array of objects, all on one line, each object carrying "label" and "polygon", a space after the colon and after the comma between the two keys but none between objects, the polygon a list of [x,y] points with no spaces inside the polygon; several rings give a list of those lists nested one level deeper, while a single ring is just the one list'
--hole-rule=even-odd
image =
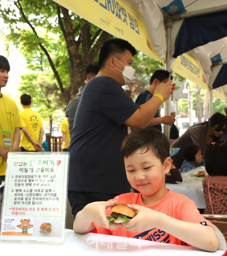
[{"label": "young staff member in yellow shirt wearing a STAFF badge", "polygon": [[[20,144],[20,117],[16,103],[1,93],[8,81],[10,70],[8,60],[0,55],[0,184],[5,180],[5,169],[8,152],[18,151]],[[0,188],[2,202],[3,187]]]}]

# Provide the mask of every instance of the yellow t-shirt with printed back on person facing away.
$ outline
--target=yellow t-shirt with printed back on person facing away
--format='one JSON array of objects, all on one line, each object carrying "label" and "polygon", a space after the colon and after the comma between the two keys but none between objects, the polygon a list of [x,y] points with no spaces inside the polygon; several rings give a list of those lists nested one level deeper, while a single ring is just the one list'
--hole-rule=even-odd
[{"label": "yellow t-shirt with printed back on person facing away", "polygon": [[[20,112],[20,121],[21,121],[22,127],[27,128],[27,131],[29,132],[33,140],[39,143],[40,128],[43,127],[42,120],[39,114],[30,108],[25,108]],[[35,147],[32,145],[32,143],[24,135],[22,130],[21,130],[20,145],[24,149],[29,151],[36,150]]]}]

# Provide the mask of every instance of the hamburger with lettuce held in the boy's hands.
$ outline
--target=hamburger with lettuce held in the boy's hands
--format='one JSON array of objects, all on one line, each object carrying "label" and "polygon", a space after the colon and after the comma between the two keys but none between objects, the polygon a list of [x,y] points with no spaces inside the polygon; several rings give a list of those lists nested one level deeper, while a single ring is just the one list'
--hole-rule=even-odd
[{"label": "hamburger with lettuce held in the boy's hands", "polygon": [[136,216],[136,212],[126,204],[116,204],[110,210],[112,211],[111,216],[106,216],[106,218],[111,225],[113,223],[127,222]]}]

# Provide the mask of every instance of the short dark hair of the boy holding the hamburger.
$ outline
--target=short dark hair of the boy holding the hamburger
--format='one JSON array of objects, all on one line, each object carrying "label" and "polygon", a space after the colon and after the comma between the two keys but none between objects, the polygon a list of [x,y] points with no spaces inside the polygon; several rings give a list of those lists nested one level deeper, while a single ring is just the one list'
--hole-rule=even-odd
[{"label": "short dark hair of the boy holding the hamburger", "polygon": [[154,127],[138,128],[126,136],[121,146],[123,158],[128,158],[136,150],[141,154],[151,150],[162,164],[169,157],[169,141],[164,133]]}]

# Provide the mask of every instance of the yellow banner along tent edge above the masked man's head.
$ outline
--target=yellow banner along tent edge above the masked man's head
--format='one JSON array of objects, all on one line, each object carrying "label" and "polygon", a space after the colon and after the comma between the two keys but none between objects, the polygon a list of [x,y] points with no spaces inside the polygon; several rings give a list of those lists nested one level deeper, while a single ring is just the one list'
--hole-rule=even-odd
[{"label": "yellow banner along tent edge above the masked man's head", "polygon": [[[147,56],[161,61],[150,44],[135,13],[120,0],[55,1],[108,33],[129,41]],[[139,11],[138,11],[139,12]]]}]

